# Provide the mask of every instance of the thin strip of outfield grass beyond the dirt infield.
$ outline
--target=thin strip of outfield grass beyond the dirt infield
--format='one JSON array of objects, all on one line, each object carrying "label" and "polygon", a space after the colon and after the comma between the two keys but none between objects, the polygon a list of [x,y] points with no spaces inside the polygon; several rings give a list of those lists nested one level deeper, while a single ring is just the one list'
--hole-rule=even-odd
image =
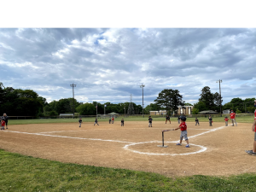
[{"label": "thin strip of outfield grass beyond the dirt infield", "polygon": [[[115,122],[121,121],[121,119],[124,118],[120,116],[119,118],[115,119]],[[125,121],[147,121],[148,122],[148,115],[144,118],[142,117],[129,117],[124,118]],[[207,118],[198,118],[199,122],[207,122]],[[214,122],[223,122],[224,123],[224,115],[223,117],[215,117],[212,118],[213,123]],[[83,118],[83,122],[94,122],[95,118]],[[108,119],[98,119],[99,123],[101,121],[108,121]],[[153,118],[154,121],[166,121],[166,118]],[[195,118],[187,118],[188,122],[195,122]],[[171,122],[177,123],[177,118],[171,118]],[[231,120],[229,121],[231,122]],[[238,123],[253,123],[253,116],[237,116],[236,122]],[[49,123],[78,123],[79,119],[9,119],[8,124],[9,125],[25,125],[25,124],[49,124]]]}]

